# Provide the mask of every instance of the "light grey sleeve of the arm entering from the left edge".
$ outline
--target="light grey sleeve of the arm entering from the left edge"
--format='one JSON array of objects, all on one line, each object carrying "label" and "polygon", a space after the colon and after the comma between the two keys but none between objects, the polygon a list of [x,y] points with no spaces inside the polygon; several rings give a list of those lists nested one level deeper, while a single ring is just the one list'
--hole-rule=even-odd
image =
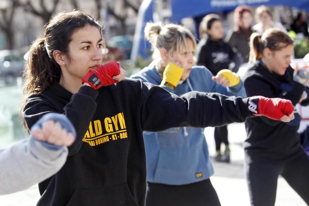
[{"label": "light grey sleeve of the arm entering from the left edge", "polygon": [[0,150],[0,195],[24,190],[55,174],[66,162],[68,149],[44,147],[33,137]]}]

